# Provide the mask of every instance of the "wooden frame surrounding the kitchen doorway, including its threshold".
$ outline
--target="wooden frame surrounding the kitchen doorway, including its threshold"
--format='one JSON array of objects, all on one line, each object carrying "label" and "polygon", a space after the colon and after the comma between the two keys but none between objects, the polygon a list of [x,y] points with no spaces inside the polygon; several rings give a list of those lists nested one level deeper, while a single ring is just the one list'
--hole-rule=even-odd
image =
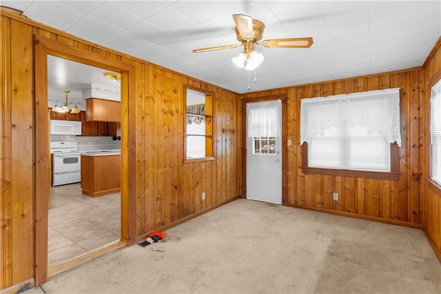
[{"label": "wooden frame surrounding the kitchen doorway, including its threshold", "polygon": [[[81,262],[103,254],[112,248],[119,248],[125,245],[134,244],[136,230],[134,215],[135,183],[134,162],[129,158],[134,158],[134,150],[128,148],[134,145],[134,126],[135,117],[130,114],[130,109],[134,107],[134,66],[123,63],[119,60],[109,59],[94,52],[67,46],[57,41],[44,37],[35,37],[35,127],[34,127],[34,157],[35,157],[35,284],[46,282],[48,276],[63,271],[67,268],[79,264],[79,260],[57,266],[48,271],[48,208],[50,208],[51,196],[51,177],[50,177],[50,116],[48,108],[48,57],[60,57],[69,61],[75,61],[87,66],[102,68],[107,71],[121,73],[121,197],[120,199],[120,234],[121,242],[111,244],[85,255],[81,255]],[[63,89],[65,90],[65,89]],[[66,89],[68,90],[68,89]],[[132,97],[132,99],[130,99]],[[131,107],[132,106],[132,107]],[[123,170],[126,172],[123,173]],[[87,196],[84,196],[87,197]],[[99,197],[98,197],[99,199]],[[81,229],[78,229],[81,231]],[[81,233],[79,233],[81,234]]]}]

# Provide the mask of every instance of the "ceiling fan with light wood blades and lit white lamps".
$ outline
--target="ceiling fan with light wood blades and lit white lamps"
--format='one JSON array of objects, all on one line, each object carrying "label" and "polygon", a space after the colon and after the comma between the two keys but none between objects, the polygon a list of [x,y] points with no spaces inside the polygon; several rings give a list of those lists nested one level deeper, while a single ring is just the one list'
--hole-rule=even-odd
[{"label": "ceiling fan with light wood blades and lit white lamps", "polygon": [[[243,46],[243,53],[233,58],[234,64],[238,68],[253,70],[257,68],[263,61],[263,55],[254,51],[254,45],[260,45],[265,48],[309,48],[313,41],[311,37],[306,38],[289,38],[289,39],[268,39],[259,43],[263,36],[265,25],[262,21],[252,19],[245,14],[233,14],[234,23],[236,23],[236,37],[240,41],[239,45],[225,45],[209,48],[194,49],[194,53],[233,49]],[[245,60],[247,66],[245,66]]]}]

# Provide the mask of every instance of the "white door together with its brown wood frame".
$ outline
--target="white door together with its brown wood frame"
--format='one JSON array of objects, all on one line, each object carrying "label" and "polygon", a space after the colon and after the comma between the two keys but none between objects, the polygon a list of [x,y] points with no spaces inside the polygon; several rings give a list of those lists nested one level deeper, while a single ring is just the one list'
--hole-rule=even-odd
[{"label": "white door together with its brown wood frame", "polygon": [[[260,129],[259,124],[268,121],[258,117],[268,115],[268,108],[278,115],[278,133],[252,130],[252,110]],[[287,95],[242,99],[242,129],[242,197],[287,205]]]}]

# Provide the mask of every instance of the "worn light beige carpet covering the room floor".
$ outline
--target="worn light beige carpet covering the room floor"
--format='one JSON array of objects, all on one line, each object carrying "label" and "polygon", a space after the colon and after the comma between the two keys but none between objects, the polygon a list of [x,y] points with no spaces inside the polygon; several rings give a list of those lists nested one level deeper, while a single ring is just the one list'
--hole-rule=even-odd
[{"label": "worn light beige carpet covering the room floor", "polygon": [[27,293],[441,293],[419,229],[238,199],[167,233]]}]

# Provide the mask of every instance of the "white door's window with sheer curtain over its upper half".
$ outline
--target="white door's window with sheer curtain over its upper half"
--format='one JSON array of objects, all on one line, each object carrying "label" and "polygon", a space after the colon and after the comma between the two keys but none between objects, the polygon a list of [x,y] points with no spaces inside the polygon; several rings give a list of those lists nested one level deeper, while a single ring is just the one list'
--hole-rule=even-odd
[{"label": "white door's window with sheer curtain over its upper half", "polygon": [[278,106],[249,108],[247,133],[253,138],[253,154],[276,155],[276,137],[280,137]]}]

